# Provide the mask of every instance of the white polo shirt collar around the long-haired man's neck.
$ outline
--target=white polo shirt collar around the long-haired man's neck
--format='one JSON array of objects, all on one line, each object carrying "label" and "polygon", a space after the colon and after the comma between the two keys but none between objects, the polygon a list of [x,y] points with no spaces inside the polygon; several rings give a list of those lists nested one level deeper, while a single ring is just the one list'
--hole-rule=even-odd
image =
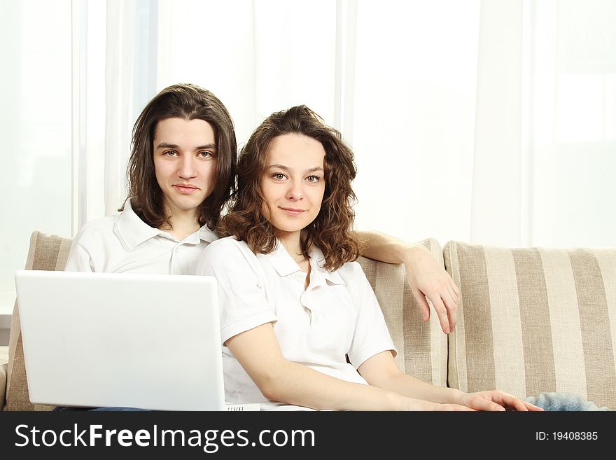
[{"label": "white polo shirt collar around the long-haired man's neck", "polygon": [[[139,244],[153,237],[157,237],[158,235],[173,239],[167,232],[158,230],[158,228],[153,228],[142,221],[141,218],[135,214],[135,211],[133,211],[130,200],[127,200],[124,204],[124,211],[116,216],[113,231],[127,251],[132,251],[139,246]],[[213,232],[207,225],[204,225],[198,232],[193,233],[193,235],[188,235],[188,237],[183,239],[183,242],[188,244],[199,244],[200,240],[204,240],[211,243],[216,239],[218,239],[216,232]]]}]

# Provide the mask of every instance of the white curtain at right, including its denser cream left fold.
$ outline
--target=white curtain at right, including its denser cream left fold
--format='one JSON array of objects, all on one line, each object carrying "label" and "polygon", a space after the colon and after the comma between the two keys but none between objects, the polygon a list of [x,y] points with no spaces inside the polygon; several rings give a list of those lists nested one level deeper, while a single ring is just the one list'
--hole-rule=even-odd
[{"label": "white curtain at right, including its denser cream left fold", "polygon": [[482,1],[468,239],[614,246],[616,4]]}]

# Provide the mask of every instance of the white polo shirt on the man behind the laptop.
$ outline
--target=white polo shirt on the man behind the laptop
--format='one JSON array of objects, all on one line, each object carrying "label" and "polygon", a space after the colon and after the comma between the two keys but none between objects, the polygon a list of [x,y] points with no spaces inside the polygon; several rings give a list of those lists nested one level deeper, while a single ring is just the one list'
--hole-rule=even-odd
[{"label": "white polo shirt on the man behind the laptop", "polygon": [[218,239],[206,226],[182,241],[124,211],[83,226],[73,239],[64,270],[145,274],[195,274],[205,247]]}]

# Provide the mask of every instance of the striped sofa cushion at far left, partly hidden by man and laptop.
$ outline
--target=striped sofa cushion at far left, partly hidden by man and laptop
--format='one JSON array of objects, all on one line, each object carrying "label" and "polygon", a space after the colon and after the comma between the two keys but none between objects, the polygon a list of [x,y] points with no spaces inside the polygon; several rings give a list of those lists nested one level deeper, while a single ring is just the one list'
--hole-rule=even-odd
[{"label": "striped sofa cushion at far left, partly hidden by man and laptop", "polygon": [[[32,233],[26,270],[64,270],[71,249],[71,241],[70,238],[57,235],[45,235],[41,232]],[[7,371],[4,410],[52,409],[52,406],[30,403],[17,302],[15,302],[10,324]]]}]

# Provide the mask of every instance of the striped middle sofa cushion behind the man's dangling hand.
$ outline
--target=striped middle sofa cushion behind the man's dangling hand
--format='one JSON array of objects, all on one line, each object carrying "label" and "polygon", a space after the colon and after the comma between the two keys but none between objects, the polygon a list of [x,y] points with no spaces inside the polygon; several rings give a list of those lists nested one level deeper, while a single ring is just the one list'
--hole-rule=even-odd
[{"label": "striped middle sofa cushion behind the man's dangling hand", "polygon": [[[436,239],[419,242],[442,265],[442,251]],[[424,382],[438,386],[447,383],[447,335],[432,312],[424,323],[421,310],[409,288],[404,265],[359,258],[385,316],[400,369]]]}]

